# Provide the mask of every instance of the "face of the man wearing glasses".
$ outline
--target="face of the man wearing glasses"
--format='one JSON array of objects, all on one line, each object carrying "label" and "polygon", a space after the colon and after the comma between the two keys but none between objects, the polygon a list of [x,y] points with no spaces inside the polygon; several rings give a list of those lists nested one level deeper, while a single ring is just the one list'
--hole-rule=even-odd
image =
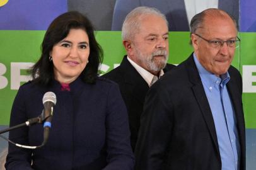
[{"label": "face of the man wearing glasses", "polygon": [[[236,40],[237,30],[235,23],[228,15],[206,16],[202,28],[197,34],[207,40]],[[233,57],[235,47],[228,47],[226,43],[220,48],[212,48],[208,42],[197,35],[192,34],[192,45],[195,55],[201,65],[212,74],[220,76],[228,71]]]}]

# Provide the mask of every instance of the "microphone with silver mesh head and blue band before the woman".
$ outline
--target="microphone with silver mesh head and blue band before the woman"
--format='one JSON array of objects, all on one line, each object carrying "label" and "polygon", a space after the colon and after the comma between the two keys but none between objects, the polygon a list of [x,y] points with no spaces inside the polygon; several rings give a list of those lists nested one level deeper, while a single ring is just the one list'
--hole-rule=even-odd
[{"label": "microphone with silver mesh head and blue band before the woman", "polygon": [[45,145],[50,133],[50,127],[51,127],[51,121],[52,121],[52,113],[54,111],[54,106],[57,102],[56,95],[48,91],[44,94],[43,97],[43,104],[44,104],[44,110],[41,115],[42,122],[44,122],[44,141],[42,142],[42,145]]}]

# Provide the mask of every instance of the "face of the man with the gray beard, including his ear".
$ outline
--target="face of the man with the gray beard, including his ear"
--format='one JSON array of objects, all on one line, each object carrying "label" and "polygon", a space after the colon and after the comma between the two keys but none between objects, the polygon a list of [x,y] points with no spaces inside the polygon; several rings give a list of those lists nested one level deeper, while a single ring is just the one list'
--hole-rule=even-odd
[{"label": "face of the man with the gray beard, including his ear", "polygon": [[168,60],[168,26],[160,16],[148,14],[133,40],[124,40],[129,57],[147,71],[158,75]]}]

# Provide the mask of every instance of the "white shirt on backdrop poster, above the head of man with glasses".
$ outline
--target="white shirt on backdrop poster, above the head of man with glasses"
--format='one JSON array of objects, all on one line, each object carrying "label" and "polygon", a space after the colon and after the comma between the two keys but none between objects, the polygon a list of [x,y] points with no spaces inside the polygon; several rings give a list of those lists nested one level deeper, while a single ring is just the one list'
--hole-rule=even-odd
[{"label": "white shirt on backdrop poster, above the head of man with glasses", "polygon": [[201,13],[207,8],[218,8],[218,0],[184,0],[189,23],[195,14]]}]

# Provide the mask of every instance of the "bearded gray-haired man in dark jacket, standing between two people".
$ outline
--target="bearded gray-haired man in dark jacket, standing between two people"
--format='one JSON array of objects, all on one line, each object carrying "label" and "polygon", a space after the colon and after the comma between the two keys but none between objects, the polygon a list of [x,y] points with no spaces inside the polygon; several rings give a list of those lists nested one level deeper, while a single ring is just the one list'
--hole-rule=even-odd
[{"label": "bearded gray-haired man in dark jacket, standing between two people", "polygon": [[127,14],[122,25],[122,40],[127,55],[119,67],[103,77],[119,84],[129,113],[134,150],[146,93],[175,65],[166,64],[169,54],[168,21],[156,8],[142,6]]}]

